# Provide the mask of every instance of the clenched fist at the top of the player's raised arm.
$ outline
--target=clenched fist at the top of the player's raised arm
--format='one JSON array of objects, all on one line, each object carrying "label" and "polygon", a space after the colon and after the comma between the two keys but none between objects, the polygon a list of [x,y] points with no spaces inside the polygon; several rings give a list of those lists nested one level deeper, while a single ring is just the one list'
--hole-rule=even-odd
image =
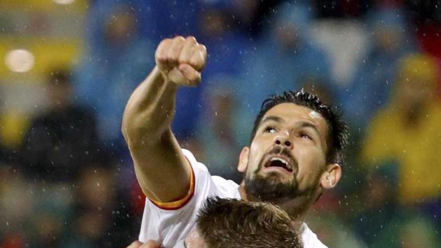
[{"label": "clenched fist at the top of the player's raised arm", "polygon": [[163,40],[155,53],[156,65],[165,80],[177,85],[196,86],[205,66],[206,48],[192,36]]}]

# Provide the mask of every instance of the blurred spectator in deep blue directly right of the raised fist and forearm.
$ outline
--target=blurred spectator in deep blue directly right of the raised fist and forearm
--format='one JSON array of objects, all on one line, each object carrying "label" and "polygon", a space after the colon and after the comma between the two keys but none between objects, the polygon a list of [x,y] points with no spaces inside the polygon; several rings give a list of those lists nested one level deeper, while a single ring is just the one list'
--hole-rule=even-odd
[{"label": "blurred spectator in deep blue directly right of the raised fist and forearm", "polygon": [[238,67],[232,61],[241,61],[241,52],[247,46],[245,39],[231,29],[228,19],[231,7],[229,1],[201,1],[199,7],[197,39],[207,47],[209,59],[203,70],[201,86],[181,87],[177,92],[172,130],[180,140],[192,138],[195,133],[197,121],[205,110],[201,100],[203,88],[210,88],[217,74],[237,74]]}]

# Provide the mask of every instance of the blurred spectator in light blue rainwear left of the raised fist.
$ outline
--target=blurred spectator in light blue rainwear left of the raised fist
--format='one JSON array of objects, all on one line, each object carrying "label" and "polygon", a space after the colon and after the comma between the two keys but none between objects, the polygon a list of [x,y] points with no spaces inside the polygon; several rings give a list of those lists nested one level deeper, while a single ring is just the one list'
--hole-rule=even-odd
[{"label": "blurred spectator in light blue rainwear left of the raised fist", "polygon": [[154,45],[138,32],[135,4],[97,2],[87,22],[87,54],[78,68],[75,95],[97,114],[100,139],[120,148],[122,113],[133,89],[154,66]]}]

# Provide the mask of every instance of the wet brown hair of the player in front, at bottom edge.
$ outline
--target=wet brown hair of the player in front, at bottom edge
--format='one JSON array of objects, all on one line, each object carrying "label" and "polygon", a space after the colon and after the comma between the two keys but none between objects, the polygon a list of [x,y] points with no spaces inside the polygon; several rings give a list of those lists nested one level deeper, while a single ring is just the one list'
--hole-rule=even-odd
[{"label": "wet brown hair of the player in front, at bottom edge", "polygon": [[303,247],[288,213],[270,203],[208,198],[196,224],[210,248]]}]

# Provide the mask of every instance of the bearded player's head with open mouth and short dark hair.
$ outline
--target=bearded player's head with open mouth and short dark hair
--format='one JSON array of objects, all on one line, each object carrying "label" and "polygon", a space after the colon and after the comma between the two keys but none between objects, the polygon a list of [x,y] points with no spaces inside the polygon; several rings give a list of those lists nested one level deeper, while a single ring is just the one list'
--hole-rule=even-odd
[{"label": "bearded player's head with open mouth and short dark hair", "polygon": [[316,96],[273,95],[262,104],[239,160],[248,197],[301,214],[339,181],[347,142],[347,125]]}]

